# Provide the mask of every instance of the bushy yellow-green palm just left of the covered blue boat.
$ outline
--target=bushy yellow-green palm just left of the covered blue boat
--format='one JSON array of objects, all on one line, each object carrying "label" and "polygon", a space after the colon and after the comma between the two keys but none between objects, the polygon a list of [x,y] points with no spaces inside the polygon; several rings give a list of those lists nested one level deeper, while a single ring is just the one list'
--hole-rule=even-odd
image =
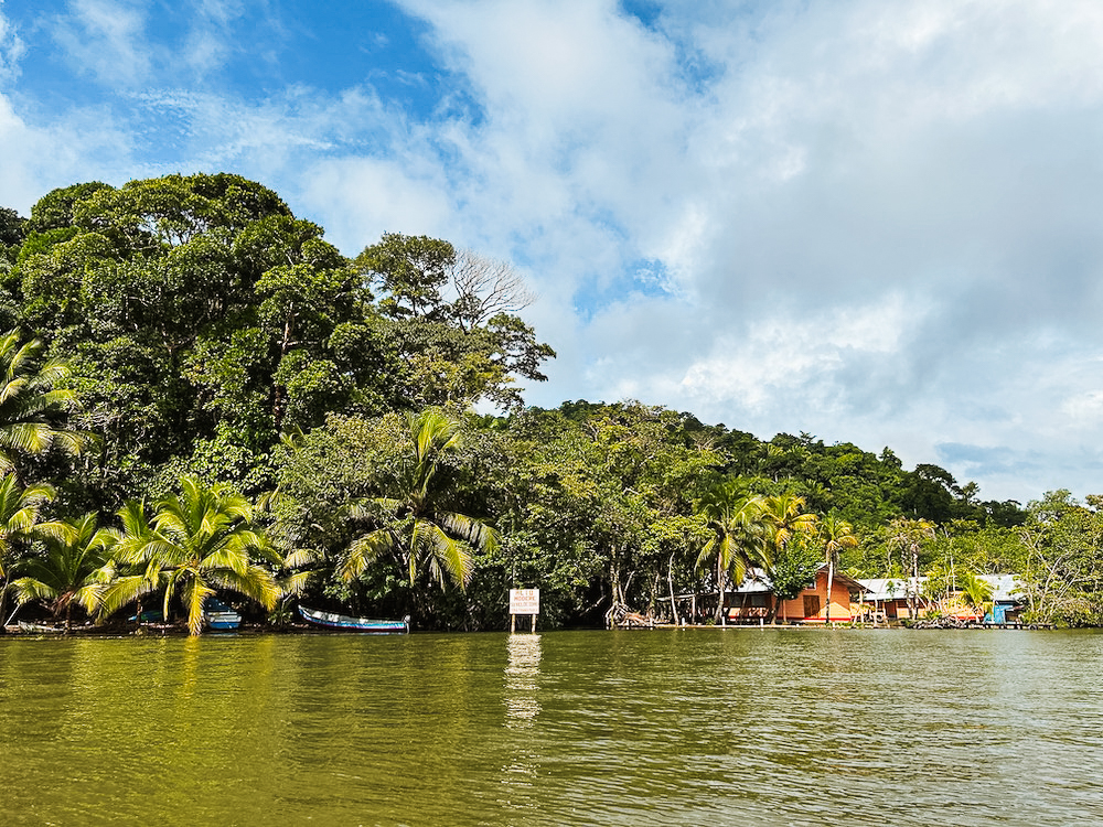
[{"label": "bushy yellow-green palm just left of the covered blue boat", "polygon": [[184,476],[180,485],[180,495],[170,494],[157,503],[152,525],[141,503],[129,503],[119,513],[124,533],[116,556],[136,573],[105,590],[104,612],[110,614],[163,589],[165,619],[173,597],[179,595],[188,613],[188,631],[196,635],[204,604],[219,589],[271,609],[279,589],[271,572],[256,560],[278,560],[250,525],[253,506],[224,484],[208,487],[195,476]]}]

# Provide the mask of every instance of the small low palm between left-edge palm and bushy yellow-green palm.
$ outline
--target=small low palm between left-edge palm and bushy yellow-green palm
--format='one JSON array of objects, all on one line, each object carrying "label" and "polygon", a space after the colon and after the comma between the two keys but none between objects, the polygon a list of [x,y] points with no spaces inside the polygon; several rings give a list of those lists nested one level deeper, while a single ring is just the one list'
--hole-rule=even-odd
[{"label": "small low palm between left-edge palm and bushy yellow-green palm", "polygon": [[19,605],[41,600],[50,604],[54,617],[64,612],[66,632],[73,627],[73,604],[92,614],[113,573],[107,551],[118,535],[96,523],[95,514],[85,514],[74,522],[39,525],[46,552],[28,557],[19,567],[22,577],[12,582]]}]

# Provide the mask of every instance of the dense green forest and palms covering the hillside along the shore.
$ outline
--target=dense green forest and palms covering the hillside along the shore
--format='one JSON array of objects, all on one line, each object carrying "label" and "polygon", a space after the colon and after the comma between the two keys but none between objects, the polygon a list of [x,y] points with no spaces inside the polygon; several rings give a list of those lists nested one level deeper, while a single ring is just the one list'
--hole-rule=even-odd
[{"label": "dense green forest and palms covering the hillside along the shore", "polygon": [[639,401],[527,407],[555,357],[532,300],[440,239],[342,256],[237,175],[0,208],[0,621],[197,634],[217,597],[270,630],[300,601],[503,630],[538,587],[544,629],[676,623],[674,594],[761,571],[794,597],[826,566],[828,593],[922,576],[947,613],[1014,574],[1024,622],[1103,622],[1103,497],[984,501],[888,447]]}]

